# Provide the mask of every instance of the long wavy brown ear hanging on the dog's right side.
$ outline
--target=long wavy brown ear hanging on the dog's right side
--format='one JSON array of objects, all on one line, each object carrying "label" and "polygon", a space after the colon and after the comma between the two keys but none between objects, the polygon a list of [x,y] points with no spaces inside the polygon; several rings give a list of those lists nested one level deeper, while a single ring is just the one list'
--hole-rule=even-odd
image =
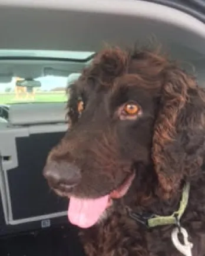
[{"label": "long wavy brown ear hanging on the dog's right side", "polygon": [[199,175],[205,149],[204,99],[194,78],[176,67],[166,71],[152,152],[163,197]]}]

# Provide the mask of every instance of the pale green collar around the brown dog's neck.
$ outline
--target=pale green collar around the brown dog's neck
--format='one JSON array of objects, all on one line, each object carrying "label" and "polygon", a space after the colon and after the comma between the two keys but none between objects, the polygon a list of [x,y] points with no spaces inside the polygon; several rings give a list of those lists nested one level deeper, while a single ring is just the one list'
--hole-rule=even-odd
[{"label": "pale green collar around the brown dog's neck", "polygon": [[187,204],[189,201],[189,192],[190,192],[190,183],[187,182],[184,185],[184,188],[182,191],[182,196],[181,196],[181,201],[180,201],[180,206],[178,208],[178,211],[173,212],[173,214],[171,214],[170,216],[160,216],[156,214],[140,215],[131,211],[129,211],[128,214],[135,221],[146,225],[147,228],[154,228],[162,225],[177,224],[177,222],[180,221],[181,216],[184,214],[184,211],[187,208]]}]

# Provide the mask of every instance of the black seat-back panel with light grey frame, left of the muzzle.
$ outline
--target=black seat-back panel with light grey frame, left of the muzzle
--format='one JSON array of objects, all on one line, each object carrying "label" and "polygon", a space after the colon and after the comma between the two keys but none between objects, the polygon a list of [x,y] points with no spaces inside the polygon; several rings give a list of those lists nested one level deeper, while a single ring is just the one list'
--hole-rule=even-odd
[{"label": "black seat-back panel with light grey frame, left of the muzzle", "polygon": [[[4,209],[4,217],[5,217],[5,222],[6,224],[10,225],[16,225],[16,224],[22,224],[26,222],[31,222],[31,221],[38,221],[42,219],[51,219],[51,218],[56,218],[59,216],[65,216],[67,214],[66,211],[61,211],[61,212],[51,212],[51,214],[42,214],[42,215],[37,215],[37,216],[29,216],[28,218],[18,218],[18,214],[16,215],[14,219],[14,208],[12,205],[16,205],[16,202],[14,204],[14,197],[19,195],[16,195],[14,192],[14,188],[11,188],[11,180],[13,180],[12,184],[14,184],[15,180],[18,182],[18,178],[16,179],[16,176],[18,177],[18,149],[16,146],[16,140],[18,139],[29,139],[29,136],[34,136],[38,137],[39,136],[45,136],[44,134],[55,134],[55,133],[62,133],[64,134],[65,130],[67,130],[67,125],[66,124],[48,124],[44,126],[29,126],[29,127],[18,127],[18,128],[5,128],[0,130],[0,152],[1,152],[1,166],[0,166],[0,192],[1,192],[1,198],[2,198],[2,206]],[[52,143],[51,143],[52,144]],[[41,145],[39,145],[41,146]],[[36,149],[34,149],[36,150]],[[48,152],[44,152],[44,155],[46,155]],[[40,153],[41,155],[41,153]],[[19,155],[20,156],[20,155]],[[25,155],[25,157],[27,157]],[[25,162],[28,162],[25,161]],[[32,164],[32,163],[31,163]],[[12,177],[9,175],[9,172],[13,173]],[[29,171],[29,169],[28,169]],[[39,170],[40,172],[42,170]],[[19,173],[20,174],[20,173]],[[34,173],[33,173],[34,174]],[[9,177],[10,176],[10,177]],[[29,177],[29,174],[26,176]],[[11,179],[12,178],[12,179]],[[14,180],[15,179],[15,180]],[[19,176],[19,180],[22,179],[22,176]],[[42,176],[42,180],[43,180]],[[31,182],[31,180],[30,180]],[[37,185],[37,184],[35,184]],[[48,188],[49,191],[49,188]],[[22,192],[21,192],[22,193]],[[27,193],[25,191],[24,193],[25,196],[27,196]],[[33,195],[31,195],[32,198]],[[12,198],[13,197],[13,198]],[[37,195],[38,199],[39,195]],[[46,196],[45,196],[46,198]],[[13,201],[13,203],[12,203]],[[16,201],[16,199],[15,199]],[[23,201],[23,200],[22,200]],[[18,204],[18,201],[17,201]],[[21,205],[21,202],[19,202],[19,205]],[[25,206],[25,205],[24,205]],[[16,212],[16,211],[15,211]],[[20,211],[22,212],[22,211]],[[24,214],[26,215],[26,214]],[[17,218],[17,219],[16,219]]]}]

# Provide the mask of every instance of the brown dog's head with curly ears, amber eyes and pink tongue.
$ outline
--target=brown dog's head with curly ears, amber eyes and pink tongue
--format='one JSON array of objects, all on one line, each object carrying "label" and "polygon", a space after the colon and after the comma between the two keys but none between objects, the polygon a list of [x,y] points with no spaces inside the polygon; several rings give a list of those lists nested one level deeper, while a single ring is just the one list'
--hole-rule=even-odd
[{"label": "brown dog's head with curly ears, amber eyes and pink tongue", "polygon": [[94,225],[132,184],[170,198],[203,165],[204,93],[161,55],[104,50],[68,91],[70,128],[44,175],[73,223]]}]

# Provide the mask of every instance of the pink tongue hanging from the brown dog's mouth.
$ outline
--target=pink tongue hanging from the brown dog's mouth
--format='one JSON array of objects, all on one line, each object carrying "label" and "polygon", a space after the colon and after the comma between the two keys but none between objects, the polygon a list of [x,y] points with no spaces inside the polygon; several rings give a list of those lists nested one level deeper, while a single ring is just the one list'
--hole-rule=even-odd
[{"label": "pink tongue hanging from the brown dog's mouth", "polygon": [[97,199],[70,198],[68,218],[81,228],[93,226],[107,208],[109,195]]}]

